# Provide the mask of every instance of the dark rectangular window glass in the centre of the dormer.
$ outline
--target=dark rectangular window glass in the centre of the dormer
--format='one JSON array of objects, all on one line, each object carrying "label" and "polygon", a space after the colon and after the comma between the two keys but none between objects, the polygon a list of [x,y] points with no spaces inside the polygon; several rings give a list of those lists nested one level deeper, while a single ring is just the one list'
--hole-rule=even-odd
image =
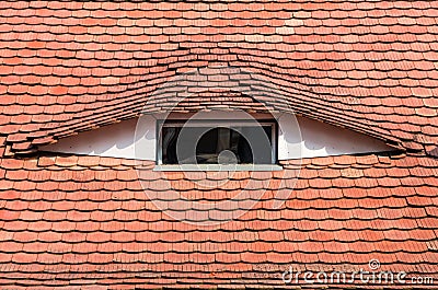
[{"label": "dark rectangular window glass in the centre of the dormer", "polygon": [[[238,121],[239,123],[239,121]],[[275,164],[275,123],[161,127],[161,164]],[[253,144],[251,144],[251,142]],[[262,144],[263,143],[263,144]]]}]

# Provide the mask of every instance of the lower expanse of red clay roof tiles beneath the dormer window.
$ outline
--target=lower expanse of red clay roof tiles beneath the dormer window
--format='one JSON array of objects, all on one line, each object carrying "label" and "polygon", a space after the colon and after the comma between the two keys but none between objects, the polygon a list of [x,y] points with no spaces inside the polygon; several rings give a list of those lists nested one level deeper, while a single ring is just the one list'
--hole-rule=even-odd
[{"label": "lower expanse of red clay roof tiles beneath the dormer window", "polygon": [[[76,155],[3,159],[0,283],[50,287],[56,281],[82,288],[92,282],[120,289],[176,281],[249,287],[257,281],[281,287],[279,275],[291,264],[303,269],[339,263],[360,268],[371,258],[385,270],[437,278],[436,160],[371,154],[303,164],[296,189],[280,209],[269,206],[269,188],[276,183],[264,183],[268,190],[244,216],[197,227],[155,208],[130,161]],[[290,170],[288,162],[284,166]],[[230,196],[220,188],[200,189],[181,172],[160,176],[152,166],[149,171],[141,176],[151,181],[146,190],[161,190],[158,199],[170,197],[168,189],[157,187],[164,177],[194,200]],[[217,179],[197,174],[199,179]],[[273,175],[280,176],[260,173],[254,178]],[[237,173],[229,183],[238,193],[249,177]]]}]

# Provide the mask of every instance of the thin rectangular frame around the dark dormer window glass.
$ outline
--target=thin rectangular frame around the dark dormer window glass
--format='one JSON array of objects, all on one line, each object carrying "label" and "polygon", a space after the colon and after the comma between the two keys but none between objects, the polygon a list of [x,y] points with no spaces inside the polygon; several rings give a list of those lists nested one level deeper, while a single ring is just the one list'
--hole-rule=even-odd
[{"label": "thin rectangular frame around the dark dormer window glass", "polygon": [[[266,167],[268,169],[269,166],[276,166],[278,165],[278,124],[275,119],[255,119],[261,126],[270,126],[270,156],[272,156],[272,163],[270,164],[237,164],[234,166],[242,166],[242,167],[249,167],[249,166],[257,166],[260,169]],[[155,136],[157,136],[157,150],[155,150],[155,164],[160,166],[169,166],[169,167],[175,167],[175,166],[183,166],[183,167],[192,167],[196,165],[208,165],[208,167],[215,167],[215,165],[218,164],[163,164],[162,162],[162,139],[163,136],[161,134],[163,127],[183,127],[186,125],[187,119],[157,119],[157,126],[155,126]],[[211,129],[219,127],[220,125],[223,125],[226,128],[233,128],[233,127],[243,127],[243,126],[254,126],[254,120],[252,119],[195,119],[191,120],[187,126],[189,127],[211,127]]]}]

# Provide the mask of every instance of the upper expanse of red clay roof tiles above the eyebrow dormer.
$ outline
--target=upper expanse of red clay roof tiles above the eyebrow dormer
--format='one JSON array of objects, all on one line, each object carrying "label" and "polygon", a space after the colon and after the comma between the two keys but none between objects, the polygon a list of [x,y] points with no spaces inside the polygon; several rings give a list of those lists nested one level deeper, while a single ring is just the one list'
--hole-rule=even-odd
[{"label": "upper expanse of red clay roof tiles above the eyebrow dormer", "polygon": [[437,143],[430,1],[1,5],[8,154],[138,115],[169,78],[218,65],[266,76],[308,117],[410,150]]}]

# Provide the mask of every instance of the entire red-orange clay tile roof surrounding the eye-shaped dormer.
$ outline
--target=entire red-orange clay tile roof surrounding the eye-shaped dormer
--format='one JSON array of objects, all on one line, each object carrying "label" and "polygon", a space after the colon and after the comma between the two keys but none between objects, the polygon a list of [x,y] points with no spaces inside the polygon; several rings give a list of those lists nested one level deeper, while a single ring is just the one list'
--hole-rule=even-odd
[{"label": "entire red-orange clay tile roof surrounding the eye-shaped dormer", "polygon": [[[289,265],[367,269],[373,258],[438,281],[437,18],[435,1],[0,2],[0,287],[281,288]],[[283,175],[263,173],[255,208],[201,228],[155,208],[130,160],[19,155],[138,116],[160,84],[207,66],[257,72],[296,113],[401,153],[304,160],[275,210]],[[181,109],[286,109],[233,90],[249,84],[232,79]],[[143,184],[166,197],[151,169]],[[208,189],[166,175],[200,201],[249,176]]]}]

